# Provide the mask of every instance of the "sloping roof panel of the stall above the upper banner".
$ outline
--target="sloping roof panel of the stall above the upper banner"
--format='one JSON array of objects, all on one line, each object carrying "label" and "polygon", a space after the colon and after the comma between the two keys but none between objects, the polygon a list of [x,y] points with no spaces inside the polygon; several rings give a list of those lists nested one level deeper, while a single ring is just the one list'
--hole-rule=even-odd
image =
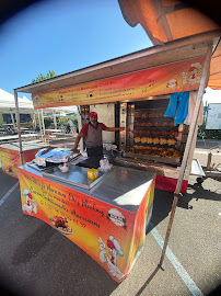
[{"label": "sloping roof panel of the stall above the upper banner", "polygon": [[148,68],[173,64],[190,58],[206,56],[208,45],[213,48],[219,43],[221,32],[214,30],[194,36],[167,42],[143,50],[121,56],[112,60],[57,76],[34,84],[16,88],[16,92],[40,93],[65,87],[91,82],[104,78],[116,77]]}]

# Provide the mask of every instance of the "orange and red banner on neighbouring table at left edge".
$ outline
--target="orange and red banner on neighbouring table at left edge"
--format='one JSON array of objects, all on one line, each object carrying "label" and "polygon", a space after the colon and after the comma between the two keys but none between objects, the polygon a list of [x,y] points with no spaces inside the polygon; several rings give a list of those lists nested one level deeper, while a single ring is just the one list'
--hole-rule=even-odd
[{"label": "orange and red banner on neighbouring table at left edge", "polygon": [[[37,149],[23,151],[24,162],[32,161],[35,158]],[[11,177],[18,177],[18,167],[22,164],[20,151],[0,147],[0,168]]]}]

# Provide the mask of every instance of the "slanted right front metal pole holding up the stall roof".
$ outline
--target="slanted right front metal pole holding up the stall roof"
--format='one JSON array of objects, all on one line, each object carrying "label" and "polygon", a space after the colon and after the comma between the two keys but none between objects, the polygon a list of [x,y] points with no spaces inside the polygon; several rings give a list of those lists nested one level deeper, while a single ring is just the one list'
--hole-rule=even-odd
[{"label": "slanted right front metal pole holding up the stall roof", "polygon": [[196,129],[197,129],[197,119],[198,119],[198,115],[199,115],[199,109],[200,109],[202,95],[205,92],[205,88],[207,87],[207,83],[208,83],[208,75],[209,75],[211,56],[212,56],[212,45],[209,45],[208,50],[207,50],[206,60],[205,60],[202,77],[201,77],[201,81],[200,81],[200,86],[199,86],[199,91],[198,91],[198,95],[197,95],[197,101],[196,101],[196,105],[195,105],[195,110],[194,110],[194,116],[193,116],[193,121],[190,124],[189,134],[187,137],[186,148],[185,148],[185,152],[184,152],[184,158],[182,161],[182,167],[181,167],[181,171],[179,171],[179,175],[178,175],[178,181],[176,183],[176,190],[174,192],[174,200],[173,200],[173,205],[172,205],[172,209],[171,209],[171,216],[170,216],[166,236],[165,236],[165,240],[164,240],[164,244],[163,244],[163,250],[162,250],[161,259],[160,259],[160,263],[159,263],[160,266],[162,266],[163,260],[165,257],[166,247],[167,247],[168,238],[170,238],[170,234],[171,234],[171,228],[172,228],[172,224],[173,224],[173,219],[174,219],[174,215],[175,215],[175,210],[176,210],[176,205],[177,205],[178,197],[181,194],[184,174],[185,174],[185,170],[186,170],[186,166],[187,166],[187,161],[188,161],[188,157],[189,157],[189,151],[190,151],[191,146],[193,146],[193,138],[194,138]]}]

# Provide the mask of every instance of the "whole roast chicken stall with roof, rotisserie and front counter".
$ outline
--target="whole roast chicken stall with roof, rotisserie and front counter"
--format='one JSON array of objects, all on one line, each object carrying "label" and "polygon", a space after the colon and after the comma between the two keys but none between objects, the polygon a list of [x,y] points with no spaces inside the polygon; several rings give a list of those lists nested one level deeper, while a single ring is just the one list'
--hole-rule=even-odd
[{"label": "whole roast chicken stall with roof, rotisserie and front counter", "polygon": [[[24,213],[59,228],[117,282],[141,250],[154,182],[176,190],[176,195],[186,191],[198,113],[219,37],[214,31],[173,41],[14,91],[15,102],[18,92],[32,93],[35,109],[79,105],[80,124],[98,105],[109,110],[114,104],[115,126],[125,130],[116,133],[116,157],[109,159],[109,170],[98,171],[94,184],[88,179],[91,166],[77,166],[79,155],[66,172],[58,166],[40,171],[24,164],[19,179]],[[189,124],[176,124],[165,113],[172,94],[187,92],[195,98],[187,109]]]}]

